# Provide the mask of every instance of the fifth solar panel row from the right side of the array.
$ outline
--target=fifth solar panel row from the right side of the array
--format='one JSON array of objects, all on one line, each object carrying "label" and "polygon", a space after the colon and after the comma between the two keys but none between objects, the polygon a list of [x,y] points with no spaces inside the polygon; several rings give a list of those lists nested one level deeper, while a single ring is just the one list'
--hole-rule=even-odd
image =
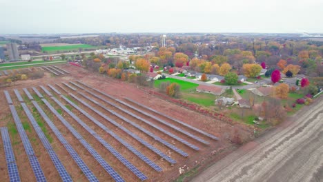
[{"label": "fifth solar panel row from the right side of the array", "polygon": [[[74,95],[72,95],[72,97],[75,98]],[[88,117],[88,119],[90,119],[92,122],[94,122],[95,124],[97,124],[102,130],[106,131],[113,138],[115,138],[117,141],[119,141],[120,143],[122,143],[126,148],[128,148],[128,150],[130,150],[131,152],[133,152],[133,154],[137,155],[142,161],[144,161],[145,163],[147,163],[148,165],[150,165],[150,167],[152,167],[154,170],[156,170],[158,172],[160,172],[162,170],[158,165],[156,165],[155,163],[153,163],[153,161],[150,161],[150,159],[148,159],[146,156],[144,156],[143,154],[141,154],[141,152],[139,152],[135,148],[133,148],[132,145],[130,145],[129,143],[127,143],[126,141],[124,141],[123,139],[121,139],[121,137],[119,137],[117,134],[115,134],[114,132],[112,132],[111,130],[109,130],[108,128],[106,128],[105,125],[103,125],[102,123],[100,123],[99,121],[97,121],[97,119],[95,119],[94,117],[90,116],[90,114],[88,114],[84,110],[81,110],[81,108],[79,108],[77,105],[75,105],[74,103],[72,103],[71,101],[69,101],[68,99],[66,99],[65,97],[63,97],[63,99],[65,99],[66,101],[68,101],[68,103],[70,103],[71,105],[73,105],[73,107],[75,107],[77,110],[79,110],[79,112],[81,112],[86,117]],[[110,121],[111,123],[114,123],[114,124],[116,123],[112,119],[108,118],[106,115],[104,115],[101,112],[99,112],[99,111],[95,110],[94,108],[90,107],[90,105],[88,105],[84,101],[81,101],[79,99],[77,99],[77,100],[80,101],[81,103],[83,103],[84,105],[86,105],[86,107],[90,108],[91,110],[93,110],[94,112],[96,112],[97,114],[99,114],[101,117],[104,117],[106,120]],[[94,132],[94,131],[92,131],[92,132]],[[128,134],[129,134],[129,132],[130,131],[128,131]]]}]

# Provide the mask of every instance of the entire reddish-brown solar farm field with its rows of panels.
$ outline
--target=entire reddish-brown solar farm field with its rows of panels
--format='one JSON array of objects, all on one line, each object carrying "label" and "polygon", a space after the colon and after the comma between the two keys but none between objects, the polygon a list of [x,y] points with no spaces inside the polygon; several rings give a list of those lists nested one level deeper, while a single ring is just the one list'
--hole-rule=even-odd
[{"label": "entire reddish-brown solar farm field with its rows of panels", "polygon": [[0,88],[0,181],[174,181],[251,134],[146,88],[47,69],[64,74]]}]

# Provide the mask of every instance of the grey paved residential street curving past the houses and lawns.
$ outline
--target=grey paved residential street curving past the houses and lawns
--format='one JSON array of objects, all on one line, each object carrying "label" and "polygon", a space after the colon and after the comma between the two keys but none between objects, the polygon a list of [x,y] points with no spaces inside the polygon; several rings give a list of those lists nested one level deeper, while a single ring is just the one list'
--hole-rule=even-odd
[{"label": "grey paved residential street curving past the houses and lawns", "polygon": [[[179,79],[179,80],[182,80],[182,81],[188,81],[188,82],[191,82],[191,83],[197,83],[199,85],[215,86],[215,87],[224,88],[224,89],[230,88],[230,86],[214,85],[214,84],[206,83],[206,82],[203,82],[203,81],[197,81],[197,80],[193,80],[193,79],[186,79],[185,77],[177,77],[177,76],[166,74],[166,73],[163,73],[163,74],[166,77],[170,77],[170,78],[173,78],[173,79]],[[258,83],[255,83],[255,84],[242,85],[242,86],[233,86],[232,88],[239,88],[239,89],[258,88],[258,87],[260,87],[260,85],[264,85],[264,84],[268,84],[268,83],[271,83],[271,79],[262,79],[261,81],[259,81]]]}]

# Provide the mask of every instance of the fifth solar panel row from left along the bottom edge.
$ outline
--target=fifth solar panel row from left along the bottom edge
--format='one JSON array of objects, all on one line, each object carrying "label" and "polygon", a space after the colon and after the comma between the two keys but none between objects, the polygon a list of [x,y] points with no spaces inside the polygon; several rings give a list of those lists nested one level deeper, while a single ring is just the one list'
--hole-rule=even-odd
[{"label": "fifth solar panel row from left along the bottom edge", "polygon": [[[51,97],[51,98],[55,99],[55,97]],[[77,132],[77,130],[75,130],[72,127],[72,125],[68,123],[68,121],[66,121],[63,117],[61,117],[61,115],[55,110],[55,108],[52,107],[52,105],[50,105],[50,103],[48,103],[46,99],[41,99],[41,100],[47,105],[50,111],[53,114],[55,114],[55,116],[59,119],[59,121],[61,121],[61,123],[63,123],[63,125],[65,125],[66,128],[68,128],[68,130],[75,136],[75,138],[77,138],[79,142],[82,145],[84,145],[84,148],[86,148],[86,150],[90,152],[90,154],[95,158],[95,160],[97,160],[97,162],[104,168],[104,170],[106,170],[106,172],[108,172],[115,179],[115,181],[124,181],[121,178],[121,176],[119,176],[119,174],[117,174],[117,172],[115,172],[115,170],[113,170],[111,166],[108,165],[108,163],[106,163],[106,161],[102,158],[102,156],[99,153],[97,153],[97,151],[94,148],[92,148],[90,144],[86,142],[86,140],[81,136],[81,134],[79,134],[79,132]],[[130,170],[135,171],[135,169],[130,169]],[[144,174],[142,174],[139,170],[135,174],[142,181],[147,179],[147,177]]]}]

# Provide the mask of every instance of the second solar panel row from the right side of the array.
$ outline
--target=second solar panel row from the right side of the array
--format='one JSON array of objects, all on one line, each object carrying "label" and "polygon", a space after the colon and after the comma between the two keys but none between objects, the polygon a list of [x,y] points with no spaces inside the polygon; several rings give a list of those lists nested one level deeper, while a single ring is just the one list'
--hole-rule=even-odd
[{"label": "second solar panel row from the right side of the array", "polygon": [[[93,89],[93,90],[95,90],[95,89]],[[99,90],[96,90],[96,91],[97,92],[100,92]],[[90,93],[88,90],[86,90],[86,92]],[[104,94],[104,93],[101,92],[101,94]],[[104,95],[106,95],[107,97],[113,99],[112,97],[108,96],[107,94],[104,94]],[[115,100],[115,99],[113,99],[113,100]],[[163,132],[164,134],[167,134],[168,136],[172,137],[173,139],[176,139],[177,141],[183,143],[184,145],[187,145],[189,148],[193,148],[194,150],[199,150],[199,148],[197,146],[193,145],[192,143],[189,143],[188,141],[180,138],[179,136],[176,136],[175,134],[173,134],[171,132],[168,132],[168,131],[164,130],[163,128],[159,128],[158,125],[155,125],[153,123],[150,123],[150,121],[147,121],[146,119],[143,119],[143,118],[137,116],[136,114],[133,114],[132,112],[129,112],[128,110],[125,110],[124,108],[120,108],[118,105],[115,105],[113,103],[110,103],[109,101],[106,101],[106,100],[103,100],[103,101],[106,102],[106,103],[109,103],[110,105],[113,105],[115,108],[117,108],[119,110],[122,110],[123,112],[126,112],[130,116],[135,117],[136,119],[138,119],[140,121],[143,121],[144,123],[152,126],[153,128],[155,128],[155,129]]]}]

